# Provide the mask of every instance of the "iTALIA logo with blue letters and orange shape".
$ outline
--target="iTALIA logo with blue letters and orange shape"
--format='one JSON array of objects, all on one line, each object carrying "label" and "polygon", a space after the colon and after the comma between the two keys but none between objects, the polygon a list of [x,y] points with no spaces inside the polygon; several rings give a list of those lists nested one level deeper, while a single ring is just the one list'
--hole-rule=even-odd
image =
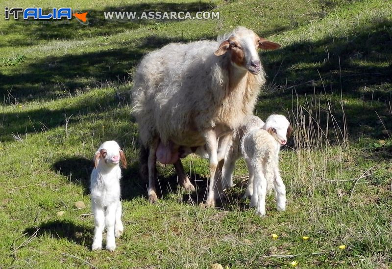
[{"label": "iTALIA logo with blue letters and orange shape", "polygon": [[33,19],[33,20],[62,20],[68,19],[71,20],[72,17],[75,17],[76,20],[82,25],[88,25],[89,21],[87,18],[88,12],[76,13],[72,12],[71,7],[53,7],[50,11],[46,13],[43,11],[42,7],[5,7],[4,10],[4,18],[6,20],[10,19],[10,16],[14,18],[14,20],[18,20],[19,16],[22,15],[24,20]]}]

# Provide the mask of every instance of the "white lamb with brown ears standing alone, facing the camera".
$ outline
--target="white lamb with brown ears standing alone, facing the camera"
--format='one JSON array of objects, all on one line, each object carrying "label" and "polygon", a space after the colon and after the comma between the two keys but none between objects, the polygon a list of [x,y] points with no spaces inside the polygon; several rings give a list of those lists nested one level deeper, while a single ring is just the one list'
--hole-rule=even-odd
[{"label": "white lamb with brown ears standing alone, facing the camera", "polygon": [[106,249],[116,249],[115,237],[123,233],[121,222],[120,178],[126,166],[125,155],[116,141],[104,142],[94,155],[95,167],[91,173],[91,208],[94,213],[93,250],[102,248],[102,232],[106,226]]}]

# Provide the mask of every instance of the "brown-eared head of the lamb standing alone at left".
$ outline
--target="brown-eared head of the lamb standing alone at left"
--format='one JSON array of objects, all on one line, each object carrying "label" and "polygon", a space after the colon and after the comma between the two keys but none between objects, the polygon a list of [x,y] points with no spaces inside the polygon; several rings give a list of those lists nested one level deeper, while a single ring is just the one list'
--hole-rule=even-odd
[{"label": "brown-eared head of the lamb standing alone at left", "polygon": [[125,154],[116,141],[103,142],[94,155],[95,167],[98,166],[100,161],[103,161],[109,167],[118,165],[120,161],[123,167],[126,166]]}]

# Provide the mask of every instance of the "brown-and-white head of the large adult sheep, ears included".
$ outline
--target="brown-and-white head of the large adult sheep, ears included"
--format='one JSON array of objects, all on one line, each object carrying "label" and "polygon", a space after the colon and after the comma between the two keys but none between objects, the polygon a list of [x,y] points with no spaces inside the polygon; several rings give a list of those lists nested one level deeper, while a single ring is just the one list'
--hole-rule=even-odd
[{"label": "brown-and-white head of the large adult sheep, ears included", "polygon": [[223,37],[219,49],[214,54],[221,56],[229,53],[233,65],[257,75],[262,69],[257,49],[275,50],[278,48],[280,48],[279,44],[259,37],[252,30],[237,27],[229,35]]}]

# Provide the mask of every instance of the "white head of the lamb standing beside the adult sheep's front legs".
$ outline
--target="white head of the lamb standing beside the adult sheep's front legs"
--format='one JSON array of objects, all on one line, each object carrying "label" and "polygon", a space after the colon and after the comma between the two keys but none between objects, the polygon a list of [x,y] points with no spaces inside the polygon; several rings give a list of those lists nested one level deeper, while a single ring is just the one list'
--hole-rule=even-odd
[{"label": "white head of the lamb standing beside the adult sheep's front legs", "polygon": [[290,137],[293,128],[290,122],[283,115],[272,114],[266,120],[263,129],[267,130],[280,145],[287,143],[287,138]]}]

